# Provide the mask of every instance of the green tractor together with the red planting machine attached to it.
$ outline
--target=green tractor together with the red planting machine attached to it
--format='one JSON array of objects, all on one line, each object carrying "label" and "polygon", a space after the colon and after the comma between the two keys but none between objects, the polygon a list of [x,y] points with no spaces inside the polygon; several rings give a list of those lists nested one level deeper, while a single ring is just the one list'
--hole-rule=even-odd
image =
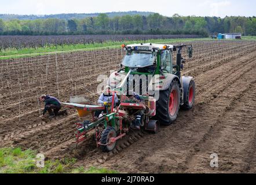
[{"label": "green tractor together with the red planting machine attached to it", "polygon": [[[118,139],[134,129],[131,125],[138,120],[138,115],[139,129],[157,133],[159,124],[170,125],[176,120],[180,107],[189,110],[195,102],[193,77],[181,75],[185,62],[181,50],[186,47],[191,58],[192,45],[141,43],[122,47],[126,56],[121,68],[108,79],[112,102],[105,105],[63,103],[75,108],[81,118],[92,114],[92,119],[76,123],[76,143],[82,142],[88,132],[94,131],[96,145],[103,151],[111,151]],[[176,64],[173,64],[173,51],[177,51]],[[136,82],[134,85],[134,76],[139,77],[137,85]],[[131,91],[136,91],[139,98],[134,98]],[[119,99],[118,105],[114,102],[115,94]],[[94,112],[101,110],[101,116],[95,119]]]}]

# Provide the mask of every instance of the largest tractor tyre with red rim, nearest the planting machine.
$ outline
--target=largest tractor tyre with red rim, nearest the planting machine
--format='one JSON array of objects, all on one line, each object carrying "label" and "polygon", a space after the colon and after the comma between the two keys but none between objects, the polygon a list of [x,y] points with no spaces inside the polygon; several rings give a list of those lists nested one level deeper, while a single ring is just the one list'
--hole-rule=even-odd
[{"label": "largest tractor tyre with red rim, nearest the planting machine", "polygon": [[177,119],[180,99],[180,86],[177,80],[173,80],[169,89],[160,91],[156,115],[161,124],[170,125]]}]

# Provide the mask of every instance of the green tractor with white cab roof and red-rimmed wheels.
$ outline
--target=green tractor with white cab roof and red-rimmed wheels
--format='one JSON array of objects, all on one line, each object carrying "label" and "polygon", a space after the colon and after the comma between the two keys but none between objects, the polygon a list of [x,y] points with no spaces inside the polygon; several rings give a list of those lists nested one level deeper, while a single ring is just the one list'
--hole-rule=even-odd
[{"label": "green tractor with white cab roof and red-rimmed wheels", "polygon": [[[181,50],[186,47],[188,57],[192,58],[192,45],[173,46],[141,43],[122,45],[122,47],[126,50],[126,56],[123,58],[121,69],[109,77],[109,86],[112,88],[120,86],[119,75],[127,78],[133,75],[158,76],[156,78],[159,79],[159,82],[153,84],[155,91],[159,91],[154,119],[164,125],[170,125],[176,120],[180,107],[185,110],[192,108],[195,102],[195,81],[191,76],[181,76],[181,70],[185,63],[181,57]],[[177,51],[175,65],[173,64],[173,51]],[[126,77],[126,81],[129,81]],[[149,86],[148,81],[147,86]],[[152,91],[150,87],[145,88],[147,88],[147,91],[144,91],[146,93]]]}]

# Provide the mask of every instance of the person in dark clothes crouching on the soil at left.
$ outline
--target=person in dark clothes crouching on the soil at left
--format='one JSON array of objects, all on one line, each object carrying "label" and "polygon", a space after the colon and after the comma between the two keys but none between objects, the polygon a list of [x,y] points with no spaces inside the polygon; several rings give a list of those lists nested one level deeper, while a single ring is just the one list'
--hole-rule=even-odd
[{"label": "person in dark clothes crouching on the soil at left", "polygon": [[40,101],[45,102],[45,109],[43,109],[43,114],[40,117],[45,115],[46,111],[50,114],[49,118],[53,118],[58,115],[58,111],[61,109],[60,101],[49,95],[42,95]]}]

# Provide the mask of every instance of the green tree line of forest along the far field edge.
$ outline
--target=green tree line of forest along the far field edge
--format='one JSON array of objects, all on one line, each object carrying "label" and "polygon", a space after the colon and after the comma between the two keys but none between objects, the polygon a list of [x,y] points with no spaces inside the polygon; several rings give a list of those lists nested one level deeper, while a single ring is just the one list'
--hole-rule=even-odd
[{"label": "green tree line of forest along the far field edge", "polygon": [[240,32],[256,35],[256,17],[162,16],[159,13],[80,19],[46,18],[36,20],[2,20],[0,35],[78,35],[78,34],[210,34]]}]

